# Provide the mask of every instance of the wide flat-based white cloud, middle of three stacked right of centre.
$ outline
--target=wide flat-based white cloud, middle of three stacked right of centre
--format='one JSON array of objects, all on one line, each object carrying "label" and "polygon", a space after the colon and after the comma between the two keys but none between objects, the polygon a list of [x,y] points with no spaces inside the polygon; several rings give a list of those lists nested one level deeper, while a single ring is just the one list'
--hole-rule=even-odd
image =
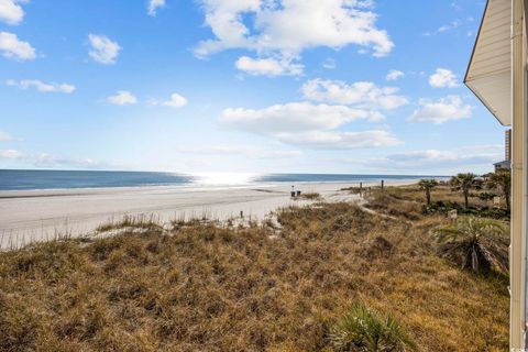
[{"label": "wide flat-based white cloud, middle of three stacked right of centre", "polygon": [[344,106],[290,102],[265,109],[226,109],[220,122],[257,134],[331,130],[355,120],[377,120],[367,110]]}]

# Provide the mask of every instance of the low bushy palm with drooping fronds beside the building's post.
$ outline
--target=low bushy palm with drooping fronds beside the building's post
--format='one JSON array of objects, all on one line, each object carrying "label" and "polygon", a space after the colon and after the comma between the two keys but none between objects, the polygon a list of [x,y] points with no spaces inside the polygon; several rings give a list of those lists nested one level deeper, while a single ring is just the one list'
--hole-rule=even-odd
[{"label": "low bushy palm with drooping fronds beside the building's post", "polygon": [[461,218],[454,226],[433,230],[442,255],[473,272],[507,273],[508,239],[496,220]]}]

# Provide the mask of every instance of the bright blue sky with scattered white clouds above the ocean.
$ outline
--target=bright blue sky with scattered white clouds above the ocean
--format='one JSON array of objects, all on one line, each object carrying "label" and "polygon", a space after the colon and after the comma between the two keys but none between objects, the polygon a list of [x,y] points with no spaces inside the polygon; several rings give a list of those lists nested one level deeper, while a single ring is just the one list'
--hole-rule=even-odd
[{"label": "bright blue sky with scattered white clouds above the ocean", "polygon": [[486,173],[483,0],[0,0],[0,168]]}]

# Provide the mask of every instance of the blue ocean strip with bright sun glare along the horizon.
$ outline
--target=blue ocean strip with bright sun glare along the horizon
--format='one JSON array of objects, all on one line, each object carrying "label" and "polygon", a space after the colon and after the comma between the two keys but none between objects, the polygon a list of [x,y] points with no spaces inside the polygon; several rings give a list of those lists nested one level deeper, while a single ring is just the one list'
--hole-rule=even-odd
[{"label": "blue ocean strip with bright sun glare along the horizon", "polygon": [[[235,174],[185,175],[152,172],[19,170],[0,169],[0,190],[108,188],[141,186],[258,186],[295,183],[378,183],[431,176],[341,174]],[[438,176],[442,178],[443,176]]]}]

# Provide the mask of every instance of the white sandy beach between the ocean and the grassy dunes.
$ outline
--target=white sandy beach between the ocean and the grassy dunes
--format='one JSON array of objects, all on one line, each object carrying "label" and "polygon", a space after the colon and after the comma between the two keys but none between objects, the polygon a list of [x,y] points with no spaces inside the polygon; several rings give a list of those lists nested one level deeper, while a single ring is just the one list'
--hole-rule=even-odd
[{"label": "white sandy beach between the ocean and the grassy dunes", "polygon": [[[413,180],[387,183],[410,184]],[[327,201],[356,199],[341,188],[355,184],[296,184],[304,193],[319,193]],[[0,191],[0,249],[78,237],[124,216],[172,219],[244,217],[262,220],[271,211],[308,204],[290,198],[292,185],[245,187],[134,187],[105,189]]]}]

